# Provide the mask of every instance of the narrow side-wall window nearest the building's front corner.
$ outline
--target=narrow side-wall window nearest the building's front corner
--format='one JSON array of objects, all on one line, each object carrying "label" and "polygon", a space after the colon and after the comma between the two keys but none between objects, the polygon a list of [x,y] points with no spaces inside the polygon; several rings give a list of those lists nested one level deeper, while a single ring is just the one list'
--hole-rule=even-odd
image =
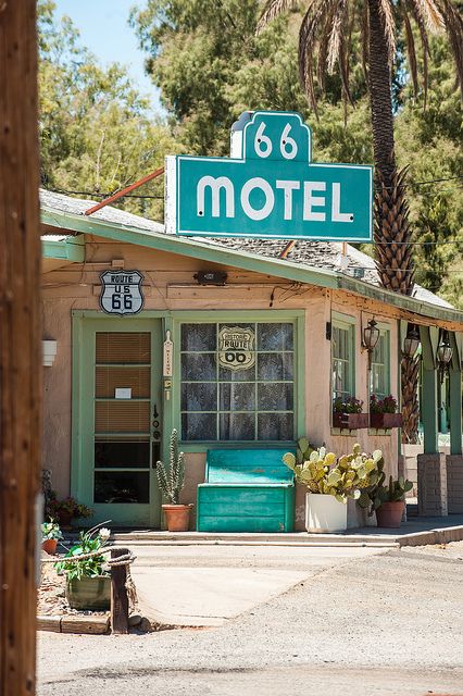
[{"label": "narrow side-wall window nearest the building's front corner", "polygon": [[355,396],[354,326],[333,321],[331,330],[333,399]]}]

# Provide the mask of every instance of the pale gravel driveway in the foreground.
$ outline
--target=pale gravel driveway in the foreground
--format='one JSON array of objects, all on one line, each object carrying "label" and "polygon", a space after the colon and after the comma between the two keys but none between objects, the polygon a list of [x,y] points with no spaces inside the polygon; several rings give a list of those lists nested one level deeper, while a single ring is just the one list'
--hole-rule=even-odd
[{"label": "pale gravel driveway in the foreground", "polygon": [[345,560],[220,627],[42,633],[38,694],[463,695],[462,557],[455,544]]}]

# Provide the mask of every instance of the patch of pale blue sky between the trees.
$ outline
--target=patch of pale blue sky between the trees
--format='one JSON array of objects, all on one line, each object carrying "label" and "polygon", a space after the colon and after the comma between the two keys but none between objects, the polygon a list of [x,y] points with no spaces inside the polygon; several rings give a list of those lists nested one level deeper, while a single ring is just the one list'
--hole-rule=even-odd
[{"label": "patch of pale blue sky between the trees", "polygon": [[54,0],[57,14],[67,14],[80,32],[82,44],[103,64],[117,61],[129,69],[142,95],[154,111],[162,111],[159,90],[145,75],[145,53],[138,48],[135,32],[128,26],[130,8],[143,7],[143,0]]}]

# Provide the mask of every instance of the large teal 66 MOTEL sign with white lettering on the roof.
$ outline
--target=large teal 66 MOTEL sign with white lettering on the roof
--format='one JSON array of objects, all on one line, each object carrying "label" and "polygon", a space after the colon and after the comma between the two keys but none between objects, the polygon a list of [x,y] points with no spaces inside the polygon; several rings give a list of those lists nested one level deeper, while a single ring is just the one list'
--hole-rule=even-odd
[{"label": "large teal 66 MOTEL sign with white lettering on the roof", "polygon": [[167,232],[371,241],[373,169],[312,162],[298,113],[246,112],[232,157],[167,158]]}]

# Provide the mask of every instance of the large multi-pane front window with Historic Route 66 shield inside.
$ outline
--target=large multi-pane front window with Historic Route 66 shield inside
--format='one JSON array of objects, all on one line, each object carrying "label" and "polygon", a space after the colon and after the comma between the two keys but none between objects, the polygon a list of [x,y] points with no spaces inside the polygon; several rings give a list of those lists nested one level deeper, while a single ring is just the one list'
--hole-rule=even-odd
[{"label": "large multi-pane front window with Historic Route 66 shield inside", "polygon": [[292,322],[180,326],[184,440],[292,440]]}]

